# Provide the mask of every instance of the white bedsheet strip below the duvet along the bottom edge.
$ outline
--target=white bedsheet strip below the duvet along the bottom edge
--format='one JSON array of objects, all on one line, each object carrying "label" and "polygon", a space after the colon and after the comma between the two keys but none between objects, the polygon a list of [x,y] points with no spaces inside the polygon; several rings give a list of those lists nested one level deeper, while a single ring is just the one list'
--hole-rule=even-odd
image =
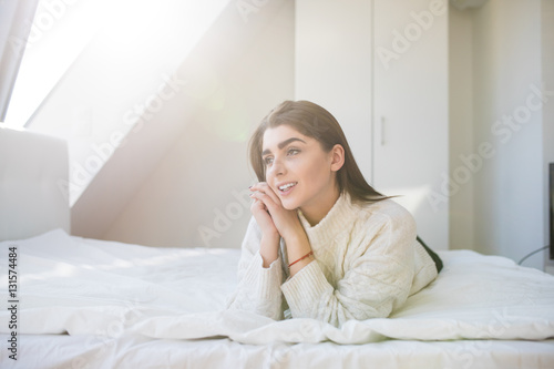
[{"label": "white bedsheet strip below the duvet along the bottom edge", "polygon": [[[0,335],[4,341],[6,335]],[[158,340],[142,336],[117,339],[90,336],[27,335],[18,362],[1,368],[553,368],[554,340],[387,340],[367,345],[244,345],[227,338]]]}]

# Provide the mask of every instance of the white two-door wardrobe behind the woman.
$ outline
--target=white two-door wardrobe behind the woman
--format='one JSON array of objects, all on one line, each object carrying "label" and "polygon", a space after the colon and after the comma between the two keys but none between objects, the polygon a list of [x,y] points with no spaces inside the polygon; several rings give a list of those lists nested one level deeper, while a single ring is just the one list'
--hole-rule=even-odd
[{"label": "white two-door wardrobe behind the woman", "polygon": [[295,98],[326,107],[363,175],[449,248],[448,1],[297,0]]}]

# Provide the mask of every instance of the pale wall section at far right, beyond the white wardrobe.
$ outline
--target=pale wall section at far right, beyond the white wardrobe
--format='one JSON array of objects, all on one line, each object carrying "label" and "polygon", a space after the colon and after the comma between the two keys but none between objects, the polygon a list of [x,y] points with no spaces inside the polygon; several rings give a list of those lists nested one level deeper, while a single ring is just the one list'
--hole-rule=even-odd
[{"label": "pale wall section at far right, beyond the white wardrobe", "polygon": [[473,17],[473,147],[493,147],[474,174],[475,249],[519,260],[544,243],[542,111],[524,116],[542,80],[541,2],[490,0]]}]

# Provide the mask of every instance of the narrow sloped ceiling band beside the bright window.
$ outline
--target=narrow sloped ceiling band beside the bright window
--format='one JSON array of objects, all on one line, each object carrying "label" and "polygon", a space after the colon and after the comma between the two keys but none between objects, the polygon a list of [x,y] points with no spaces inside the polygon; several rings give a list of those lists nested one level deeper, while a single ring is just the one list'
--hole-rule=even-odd
[{"label": "narrow sloped ceiling band beside the bright window", "polygon": [[[175,73],[164,75],[153,89],[151,109],[129,113],[137,124],[73,205],[72,234],[102,238],[198,109],[206,102],[217,104],[217,91],[211,88],[213,75],[224,75],[239,63],[256,35],[287,1],[257,3],[230,1]],[[137,104],[146,105],[147,100]],[[93,155],[101,157],[109,151],[99,146]]]}]

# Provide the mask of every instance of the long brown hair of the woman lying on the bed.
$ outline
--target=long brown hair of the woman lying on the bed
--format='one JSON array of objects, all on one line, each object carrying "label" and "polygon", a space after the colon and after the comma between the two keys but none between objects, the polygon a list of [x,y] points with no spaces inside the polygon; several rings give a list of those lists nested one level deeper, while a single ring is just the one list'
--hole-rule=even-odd
[{"label": "long brown hair of the woman lying on the bed", "polygon": [[258,181],[266,181],[266,167],[261,160],[264,133],[267,129],[281,124],[287,124],[305,136],[317,140],[327,153],[336,144],[345,148],[345,164],[337,172],[337,183],[341,193],[346,192],[352,199],[366,202],[388,198],[367,183],[335,116],[309,101],[285,101],[271,110],[259,123],[249,143],[250,164]]}]

